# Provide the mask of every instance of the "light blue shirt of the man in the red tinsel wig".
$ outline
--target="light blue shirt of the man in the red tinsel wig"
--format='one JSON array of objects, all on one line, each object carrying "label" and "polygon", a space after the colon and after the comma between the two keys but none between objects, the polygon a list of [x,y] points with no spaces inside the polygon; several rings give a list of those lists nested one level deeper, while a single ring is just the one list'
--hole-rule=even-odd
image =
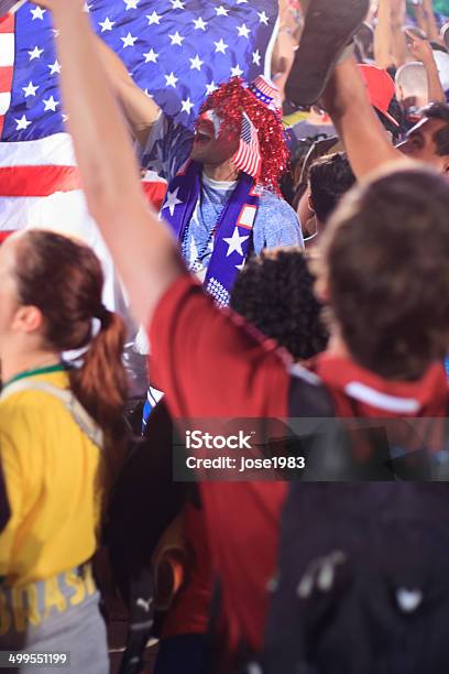
[{"label": "light blue shirt of the man in the red tinsel wig", "polygon": [[[193,132],[161,113],[141,155],[144,168],[171,181],[190,155]],[[187,267],[204,280],[213,250],[212,231],[236,183],[213,181],[202,174],[201,193],[182,241]],[[263,191],[253,225],[254,252],[277,246],[303,246],[295,210],[275,194]]]}]

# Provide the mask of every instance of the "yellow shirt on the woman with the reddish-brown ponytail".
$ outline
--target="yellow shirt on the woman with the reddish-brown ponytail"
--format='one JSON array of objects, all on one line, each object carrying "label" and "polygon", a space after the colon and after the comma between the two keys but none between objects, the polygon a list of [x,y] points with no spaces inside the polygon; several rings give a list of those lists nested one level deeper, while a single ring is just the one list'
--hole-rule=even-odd
[{"label": "yellow shirt on the woman with the reddish-brown ponytail", "polygon": [[[34,377],[68,388],[66,372]],[[11,509],[0,534],[0,576],[24,585],[89,559],[97,545],[103,461],[64,403],[33,390],[0,401],[0,455]]]}]

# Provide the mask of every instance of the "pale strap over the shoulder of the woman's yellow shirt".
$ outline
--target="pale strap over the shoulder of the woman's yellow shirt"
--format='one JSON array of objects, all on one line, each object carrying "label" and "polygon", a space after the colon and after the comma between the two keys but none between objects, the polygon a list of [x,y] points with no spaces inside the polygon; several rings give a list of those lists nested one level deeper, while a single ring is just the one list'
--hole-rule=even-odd
[{"label": "pale strap over the shoulder of the woman's yellow shirt", "polygon": [[92,420],[92,417],[86,412],[81,403],[75,398],[74,393],[69,389],[59,389],[47,381],[40,381],[37,379],[20,379],[9,384],[1,393],[0,401],[14,395],[15,393],[22,393],[23,391],[42,391],[48,395],[53,395],[61,400],[67,412],[70,414],[74,422],[79,426],[85,435],[100,449],[105,446],[103,432],[100,426]]}]

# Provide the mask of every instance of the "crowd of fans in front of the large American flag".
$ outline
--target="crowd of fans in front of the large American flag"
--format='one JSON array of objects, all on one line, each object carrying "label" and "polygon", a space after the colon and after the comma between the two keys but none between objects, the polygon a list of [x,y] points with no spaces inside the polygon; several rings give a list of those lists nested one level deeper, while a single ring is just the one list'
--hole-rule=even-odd
[{"label": "crowd of fans in front of the large American flag", "polygon": [[[446,674],[441,7],[282,2],[272,77],[222,83],[190,131],[81,0],[42,4],[134,326],[83,241],[1,241],[0,668],[110,672],[120,600],[120,674],[152,638],[154,674]],[[176,478],[191,420],[254,424],[266,470]]]}]

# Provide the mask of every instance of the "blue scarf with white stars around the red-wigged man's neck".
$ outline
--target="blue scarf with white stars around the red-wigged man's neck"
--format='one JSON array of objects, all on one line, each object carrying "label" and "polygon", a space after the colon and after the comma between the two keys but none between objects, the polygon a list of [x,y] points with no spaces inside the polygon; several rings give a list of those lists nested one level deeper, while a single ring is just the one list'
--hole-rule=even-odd
[{"label": "blue scarf with white stars around the red-wigged man's neck", "polygon": [[[171,182],[162,215],[183,241],[201,189],[201,164],[188,161]],[[215,226],[213,252],[205,279],[205,289],[219,306],[228,306],[237,274],[252,249],[252,227],[261,192],[254,180],[241,173]]]}]

